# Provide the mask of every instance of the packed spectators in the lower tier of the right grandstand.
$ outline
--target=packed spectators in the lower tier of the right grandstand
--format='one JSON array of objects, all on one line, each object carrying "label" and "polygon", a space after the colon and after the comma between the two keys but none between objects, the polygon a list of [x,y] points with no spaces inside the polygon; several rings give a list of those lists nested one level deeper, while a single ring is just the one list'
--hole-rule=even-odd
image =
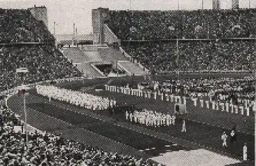
[{"label": "packed spectators in the lower tier of the right grandstand", "polygon": [[252,71],[256,61],[256,42],[253,40],[179,41],[178,44],[140,42],[123,44],[123,48],[128,55],[157,73],[176,70]]}]

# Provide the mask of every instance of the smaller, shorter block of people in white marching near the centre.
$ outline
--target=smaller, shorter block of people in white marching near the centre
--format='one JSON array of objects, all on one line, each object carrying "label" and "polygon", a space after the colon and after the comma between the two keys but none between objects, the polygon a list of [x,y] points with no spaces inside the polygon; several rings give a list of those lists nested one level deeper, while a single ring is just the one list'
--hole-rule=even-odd
[{"label": "smaller, shorter block of people in white marching near the centre", "polygon": [[128,111],[126,111],[126,120],[151,127],[168,127],[171,124],[175,125],[176,116],[144,109],[143,111],[136,110],[133,113],[128,113]]}]

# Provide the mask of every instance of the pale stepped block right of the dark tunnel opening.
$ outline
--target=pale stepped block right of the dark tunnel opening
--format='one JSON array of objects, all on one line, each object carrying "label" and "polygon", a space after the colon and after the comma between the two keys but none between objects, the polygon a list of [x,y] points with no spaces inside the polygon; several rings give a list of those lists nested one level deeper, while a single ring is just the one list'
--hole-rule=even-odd
[{"label": "pale stepped block right of the dark tunnel opening", "polygon": [[130,61],[118,62],[119,67],[123,68],[129,75],[145,75],[146,72],[142,68],[139,68],[137,64]]}]

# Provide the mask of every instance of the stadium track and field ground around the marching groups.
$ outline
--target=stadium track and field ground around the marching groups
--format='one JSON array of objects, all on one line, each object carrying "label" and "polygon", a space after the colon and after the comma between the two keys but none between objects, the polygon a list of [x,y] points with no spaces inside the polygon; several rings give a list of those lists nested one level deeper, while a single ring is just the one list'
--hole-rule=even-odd
[{"label": "stadium track and field ground around the marching groups", "polygon": [[[121,79],[85,80],[85,82],[76,82],[73,86],[70,86],[70,84],[62,84],[62,86],[72,89],[82,88],[87,93],[115,98],[120,105],[125,103],[126,105],[135,104],[136,108],[147,108],[162,112],[173,111],[172,103],[105,91],[94,91],[94,89],[103,88],[105,83],[123,84],[122,82],[125,81]],[[8,104],[23,118],[21,96],[16,95],[10,98]],[[254,125],[252,117],[246,118],[246,122],[243,124],[237,122],[237,127],[239,131],[241,130],[241,132],[238,132],[237,144],[229,144],[227,149],[223,149],[221,147],[221,133],[223,130],[229,132],[230,127],[234,124],[232,122],[241,119],[239,116],[230,119],[228,113],[211,113],[212,110],[198,109],[198,111],[191,111],[189,113],[191,116],[179,117],[176,126],[144,127],[126,122],[121,111],[111,114],[110,111],[92,111],[56,100],[49,103],[47,98],[35,94],[34,91],[31,91],[27,97],[27,109],[28,123],[38,129],[60,133],[65,138],[78,140],[87,145],[99,146],[106,151],[117,151],[137,158],[151,158],[160,163],[164,163],[164,158],[169,158],[169,162],[173,163],[173,160],[180,160],[178,156],[182,155],[190,159],[196,158],[193,156],[196,153],[211,158],[202,159],[203,156],[199,155],[195,159],[198,160],[197,163],[202,163],[205,160],[209,160],[210,163],[210,160],[219,160],[219,163],[222,163],[220,165],[253,165],[252,161],[238,163],[239,160],[237,160],[241,159],[241,146],[244,142],[248,142],[248,147],[250,147],[248,149],[249,158],[252,159],[252,156],[254,156],[254,135],[250,131],[250,128]],[[201,113],[202,111],[205,112]],[[208,116],[205,116],[205,113],[209,113]],[[216,119],[220,120],[217,122],[212,120],[211,122],[210,119],[215,116]],[[222,118],[219,118],[220,116]],[[208,117],[208,119],[203,120],[205,117]],[[187,118],[187,133],[180,132],[180,118]],[[207,124],[205,121],[208,121]],[[219,124],[222,125],[219,126]],[[170,155],[173,158],[170,158]],[[166,164],[168,165],[168,163]],[[185,160],[178,164],[189,165]]]}]

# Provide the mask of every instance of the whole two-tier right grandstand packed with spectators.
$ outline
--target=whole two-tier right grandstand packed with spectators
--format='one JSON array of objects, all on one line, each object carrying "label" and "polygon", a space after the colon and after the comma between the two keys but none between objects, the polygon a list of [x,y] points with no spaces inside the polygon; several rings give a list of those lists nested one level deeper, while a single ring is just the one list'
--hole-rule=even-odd
[{"label": "whole two-tier right grandstand packed with spectators", "polygon": [[158,73],[254,68],[255,9],[109,13],[126,53]]}]

